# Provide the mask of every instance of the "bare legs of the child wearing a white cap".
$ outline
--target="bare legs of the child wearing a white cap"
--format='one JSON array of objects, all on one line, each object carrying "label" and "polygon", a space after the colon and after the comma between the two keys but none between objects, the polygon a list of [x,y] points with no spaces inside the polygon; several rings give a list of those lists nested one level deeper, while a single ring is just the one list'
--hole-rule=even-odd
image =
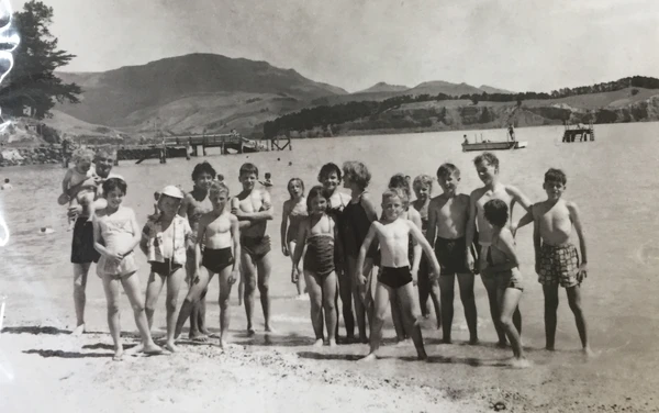
[{"label": "bare legs of the child wearing a white cap", "polygon": [[177,350],[176,345],[174,344],[177,322],[176,308],[178,306],[178,295],[185,277],[186,270],[183,268],[179,268],[178,270],[174,271],[171,275],[169,275],[169,277],[165,277],[157,272],[152,272],[146,287],[145,312],[146,320],[148,322],[148,328],[150,331],[154,323],[154,313],[156,311],[158,295],[160,295],[163,286],[165,282],[167,282],[167,301],[165,302],[165,308],[167,310],[167,341],[165,347],[170,351]]}]

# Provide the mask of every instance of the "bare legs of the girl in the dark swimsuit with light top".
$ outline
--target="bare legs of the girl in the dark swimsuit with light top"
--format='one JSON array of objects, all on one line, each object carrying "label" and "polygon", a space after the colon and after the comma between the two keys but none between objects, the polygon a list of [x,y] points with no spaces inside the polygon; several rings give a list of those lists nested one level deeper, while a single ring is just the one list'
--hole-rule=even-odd
[{"label": "bare legs of the girl in the dark swimsuit with light top", "polygon": [[327,326],[327,344],[336,345],[336,274],[333,271],[322,278],[311,271],[304,271],[311,302],[311,324],[315,334],[315,346],[323,345],[323,315]]}]

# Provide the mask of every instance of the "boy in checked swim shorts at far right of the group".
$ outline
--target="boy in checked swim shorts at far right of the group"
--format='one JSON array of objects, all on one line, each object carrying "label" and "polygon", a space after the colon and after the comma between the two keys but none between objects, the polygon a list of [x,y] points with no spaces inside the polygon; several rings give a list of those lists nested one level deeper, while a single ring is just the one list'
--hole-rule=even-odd
[{"label": "boy in checked swim shorts at far right of the group", "polygon": [[[535,246],[535,268],[545,294],[545,335],[548,350],[554,350],[556,338],[556,310],[558,309],[558,286],[566,289],[568,303],[574,314],[581,346],[587,356],[593,353],[588,343],[585,316],[581,308],[581,282],[587,277],[588,256],[585,237],[577,204],[561,199],[568,178],[560,169],[549,169],[545,174],[543,188],[547,200],[533,205],[533,244]],[[570,243],[572,225],[579,236],[581,264],[574,245]]]}]

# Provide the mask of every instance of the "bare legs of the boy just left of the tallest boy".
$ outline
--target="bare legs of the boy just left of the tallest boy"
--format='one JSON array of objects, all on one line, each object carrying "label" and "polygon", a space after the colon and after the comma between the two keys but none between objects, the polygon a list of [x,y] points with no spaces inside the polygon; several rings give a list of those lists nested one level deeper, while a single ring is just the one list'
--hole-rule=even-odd
[{"label": "bare legs of the boy just left of the tallest boy", "polygon": [[[460,300],[465,309],[465,320],[469,328],[469,343],[478,343],[477,310],[473,295],[473,274],[458,274],[458,286],[460,288]],[[455,276],[439,276],[439,290],[442,291],[442,324],[444,343],[451,343],[451,326],[454,316],[454,291]]]}]

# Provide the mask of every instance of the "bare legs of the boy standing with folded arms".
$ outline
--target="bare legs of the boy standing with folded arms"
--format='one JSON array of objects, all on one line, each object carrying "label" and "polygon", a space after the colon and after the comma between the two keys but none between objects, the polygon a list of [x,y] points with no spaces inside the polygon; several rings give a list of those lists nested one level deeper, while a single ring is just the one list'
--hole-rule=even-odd
[{"label": "bare legs of the boy standing with folded arms", "polygon": [[252,324],[252,315],[254,314],[254,293],[258,284],[260,293],[261,308],[264,310],[264,319],[266,332],[272,332],[270,324],[270,294],[269,294],[269,278],[271,271],[269,253],[259,259],[254,259],[246,252],[242,252],[243,278],[245,281],[245,314],[247,315],[247,333],[254,334],[254,325]]}]

